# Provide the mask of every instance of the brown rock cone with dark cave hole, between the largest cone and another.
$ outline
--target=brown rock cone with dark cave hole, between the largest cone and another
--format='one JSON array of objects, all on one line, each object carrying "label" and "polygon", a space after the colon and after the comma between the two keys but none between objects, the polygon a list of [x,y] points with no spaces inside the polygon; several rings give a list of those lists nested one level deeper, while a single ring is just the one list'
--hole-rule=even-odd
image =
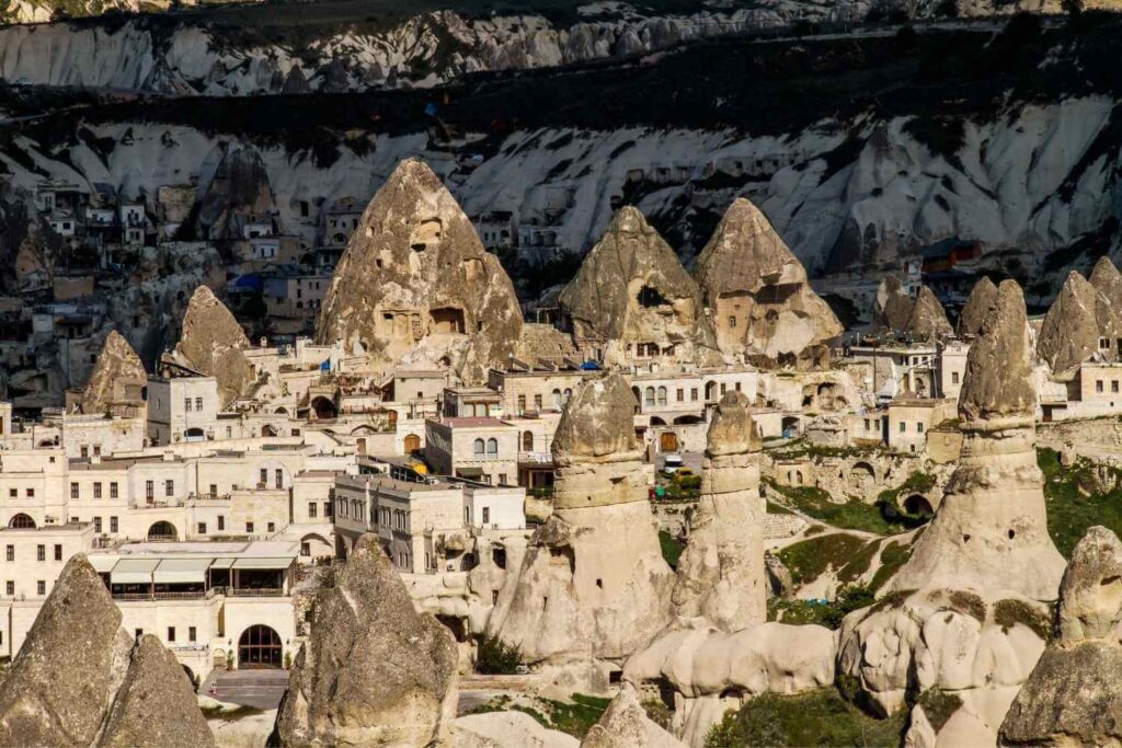
[{"label": "brown rock cone with dark cave hole, between the largest cone and another", "polygon": [[558,304],[577,344],[604,349],[608,363],[651,343],[680,361],[723,361],[700,289],[638,209],[615,214]]}]

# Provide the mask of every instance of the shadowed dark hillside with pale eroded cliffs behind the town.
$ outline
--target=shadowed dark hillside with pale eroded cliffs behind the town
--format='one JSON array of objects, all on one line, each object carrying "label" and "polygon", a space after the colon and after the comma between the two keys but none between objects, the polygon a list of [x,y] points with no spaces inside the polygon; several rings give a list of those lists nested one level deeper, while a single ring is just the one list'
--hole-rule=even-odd
[{"label": "shadowed dark hillside with pale eroded cliffs behind the town", "polygon": [[1043,31],[711,40],[643,64],[364,95],[11,89],[0,170],[17,186],[101,182],[149,202],[194,183],[202,198],[223,155],[249,148],[285,229],[312,239],[302,205],[365,203],[416,156],[469,215],[511,211],[535,241],[587,251],[631,203],[687,259],[746,195],[812,277],[956,236],[1032,301],[1119,249],[1120,38],[1115,17],[1093,16]]}]

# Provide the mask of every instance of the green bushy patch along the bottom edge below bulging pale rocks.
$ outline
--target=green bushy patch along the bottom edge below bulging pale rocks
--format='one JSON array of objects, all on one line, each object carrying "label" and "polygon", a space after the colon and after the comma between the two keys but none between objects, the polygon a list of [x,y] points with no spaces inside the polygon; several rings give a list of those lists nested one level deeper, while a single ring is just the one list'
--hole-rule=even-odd
[{"label": "green bushy patch along the bottom edge below bulging pale rocks", "polygon": [[764,694],[729,712],[706,735],[706,748],[742,746],[901,745],[907,710],[888,719],[870,717],[845,701],[837,689],[782,696]]}]

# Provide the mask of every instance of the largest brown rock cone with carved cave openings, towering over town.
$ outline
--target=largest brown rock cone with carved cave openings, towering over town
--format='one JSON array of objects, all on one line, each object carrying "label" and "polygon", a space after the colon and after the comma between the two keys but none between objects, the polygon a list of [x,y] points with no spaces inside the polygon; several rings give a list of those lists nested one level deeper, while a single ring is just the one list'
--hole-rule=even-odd
[{"label": "largest brown rock cone with carved cave openings, towering over town", "polygon": [[440,177],[406,159],[367,205],[323,299],[316,339],[388,370],[442,360],[467,384],[516,353],[511,279]]}]

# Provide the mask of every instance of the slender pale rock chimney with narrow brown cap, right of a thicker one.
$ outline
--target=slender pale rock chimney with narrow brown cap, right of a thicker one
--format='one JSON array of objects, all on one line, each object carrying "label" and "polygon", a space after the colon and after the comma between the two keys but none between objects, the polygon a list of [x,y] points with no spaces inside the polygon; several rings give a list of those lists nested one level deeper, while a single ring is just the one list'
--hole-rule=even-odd
[{"label": "slender pale rock chimney with narrow brown cap, right of a thicker one", "polygon": [[742,393],[728,393],[709,424],[701,497],[678,565],[672,601],[679,616],[702,616],[736,631],[766,620],[764,500],[760,433]]}]

